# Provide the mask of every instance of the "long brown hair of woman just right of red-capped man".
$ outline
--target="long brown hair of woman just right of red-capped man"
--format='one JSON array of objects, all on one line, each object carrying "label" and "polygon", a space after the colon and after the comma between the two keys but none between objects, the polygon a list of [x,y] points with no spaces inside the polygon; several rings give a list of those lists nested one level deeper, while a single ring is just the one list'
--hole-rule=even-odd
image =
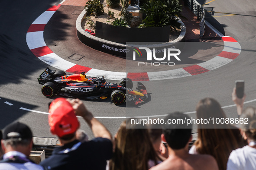
[{"label": "long brown hair of woman just right of red-capped man", "polygon": [[124,120],[115,135],[110,170],[147,170],[149,160],[156,163],[157,155],[147,129],[136,129],[131,120]]}]

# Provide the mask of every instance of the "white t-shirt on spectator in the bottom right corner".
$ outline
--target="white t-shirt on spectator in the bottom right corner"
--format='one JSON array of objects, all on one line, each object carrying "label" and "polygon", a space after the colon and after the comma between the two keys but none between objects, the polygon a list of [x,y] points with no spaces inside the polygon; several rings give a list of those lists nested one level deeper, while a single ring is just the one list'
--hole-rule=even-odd
[{"label": "white t-shirt on spectator in the bottom right corner", "polygon": [[232,151],[227,170],[256,170],[256,149],[246,145]]}]

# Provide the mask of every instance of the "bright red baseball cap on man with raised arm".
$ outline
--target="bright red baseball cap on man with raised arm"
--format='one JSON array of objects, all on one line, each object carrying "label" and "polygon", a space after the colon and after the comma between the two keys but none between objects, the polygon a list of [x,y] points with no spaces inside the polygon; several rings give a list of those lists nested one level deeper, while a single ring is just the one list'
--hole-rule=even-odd
[{"label": "bright red baseball cap on man with raised arm", "polygon": [[65,98],[52,101],[49,113],[50,130],[60,138],[75,133],[80,126],[72,105]]}]

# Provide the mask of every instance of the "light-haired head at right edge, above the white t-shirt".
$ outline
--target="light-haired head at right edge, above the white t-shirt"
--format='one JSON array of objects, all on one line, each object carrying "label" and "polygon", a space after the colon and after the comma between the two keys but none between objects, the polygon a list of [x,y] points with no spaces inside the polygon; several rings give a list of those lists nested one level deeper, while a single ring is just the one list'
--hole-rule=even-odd
[{"label": "light-haired head at right edge, above the white t-shirt", "polygon": [[244,132],[245,139],[248,141],[256,141],[256,108],[247,107],[240,118],[243,118],[244,121],[240,124],[240,128]]}]

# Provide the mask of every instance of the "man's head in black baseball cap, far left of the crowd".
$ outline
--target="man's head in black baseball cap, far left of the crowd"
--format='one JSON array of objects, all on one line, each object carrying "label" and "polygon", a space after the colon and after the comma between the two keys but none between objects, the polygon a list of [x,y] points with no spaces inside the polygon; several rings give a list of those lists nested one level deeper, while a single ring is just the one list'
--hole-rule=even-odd
[{"label": "man's head in black baseball cap, far left of the crowd", "polygon": [[24,123],[13,122],[3,129],[2,147],[5,153],[19,151],[29,156],[33,146],[32,131]]}]

